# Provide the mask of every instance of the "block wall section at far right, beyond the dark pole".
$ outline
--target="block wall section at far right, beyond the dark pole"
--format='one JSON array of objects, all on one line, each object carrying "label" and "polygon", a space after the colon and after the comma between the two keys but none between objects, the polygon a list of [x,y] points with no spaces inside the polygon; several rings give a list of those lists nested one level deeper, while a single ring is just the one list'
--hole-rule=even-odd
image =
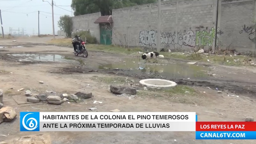
[{"label": "block wall section at far right, beyond the dark pole", "polygon": [[220,0],[218,26],[221,48],[228,45],[238,51],[254,51],[255,44],[255,0]]}]

